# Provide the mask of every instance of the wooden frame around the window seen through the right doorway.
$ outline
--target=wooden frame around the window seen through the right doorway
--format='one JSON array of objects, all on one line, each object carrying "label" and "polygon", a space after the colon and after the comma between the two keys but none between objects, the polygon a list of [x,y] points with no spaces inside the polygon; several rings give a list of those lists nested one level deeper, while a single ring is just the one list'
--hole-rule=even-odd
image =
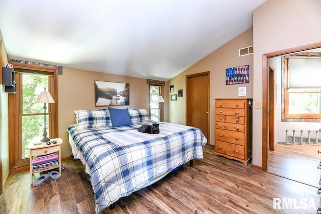
[{"label": "wooden frame around the window seen through the right doorway", "polygon": [[[289,114],[289,69],[288,69],[288,62],[290,57],[320,57],[320,55],[313,55],[313,56],[284,56],[284,119],[321,119],[321,114]],[[302,92],[300,92],[302,93]],[[312,92],[306,92],[312,93]],[[314,92],[314,93],[321,93],[321,92]],[[305,121],[306,122],[306,121]]]}]

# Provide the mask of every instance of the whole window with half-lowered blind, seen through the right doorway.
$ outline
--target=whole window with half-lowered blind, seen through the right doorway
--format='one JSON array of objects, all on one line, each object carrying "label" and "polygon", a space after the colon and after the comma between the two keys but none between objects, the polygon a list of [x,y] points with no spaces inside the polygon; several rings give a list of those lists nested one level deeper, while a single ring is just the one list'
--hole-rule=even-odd
[{"label": "whole window with half-lowered blind, seen through the right doorway", "polygon": [[321,55],[284,57],[284,118],[321,119]]}]

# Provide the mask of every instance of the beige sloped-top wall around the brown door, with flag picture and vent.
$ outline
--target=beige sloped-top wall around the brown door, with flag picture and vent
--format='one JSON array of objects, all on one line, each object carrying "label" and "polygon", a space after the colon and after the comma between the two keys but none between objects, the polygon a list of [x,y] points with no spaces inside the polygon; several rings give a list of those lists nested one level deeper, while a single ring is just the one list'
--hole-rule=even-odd
[{"label": "beige sloped-top wall around the brown door, with flag picture and vent", "polygon": [[[226,43],[207,57],[195,63],[184,72],[171,79],[168,85],[174,85],[174,93],[178,89],[186,91],[186,75],[210,71],[210,139],[208,142],[214,144],[214,99],[215,98],[238,98],[238,88],[246,87],[247,98],[253,97],[253,55],[238,56],[240,48],[253,45],[252,28],[248,29],[238,37]],[[255,51],[255,47],[254,47]],[[226,85],[226,68],[250,65],[250,83]],[[177,101],[169,101],[169,122],[185,125],[185,94],[178,97]]]}]

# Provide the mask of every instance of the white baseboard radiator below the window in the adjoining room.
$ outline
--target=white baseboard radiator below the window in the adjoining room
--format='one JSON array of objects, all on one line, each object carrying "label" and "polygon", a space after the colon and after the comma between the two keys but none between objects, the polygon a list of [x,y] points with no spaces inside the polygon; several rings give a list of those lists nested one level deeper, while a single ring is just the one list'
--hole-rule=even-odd
[{"label": "white baseboard radiator below the window in the adjoining room", "polygon": [[321,130],[285,130],[288,144],[321,144]]}]

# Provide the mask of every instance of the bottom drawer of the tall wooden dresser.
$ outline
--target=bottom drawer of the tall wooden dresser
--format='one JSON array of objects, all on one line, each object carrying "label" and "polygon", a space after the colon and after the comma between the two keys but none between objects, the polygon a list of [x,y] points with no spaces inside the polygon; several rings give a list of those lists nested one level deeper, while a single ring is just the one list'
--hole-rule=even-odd
[{"label": "bottom drawer of the tall wooden dresser", "polygon": [[215,152],[244,159],[244,146],[215,141]]}]

